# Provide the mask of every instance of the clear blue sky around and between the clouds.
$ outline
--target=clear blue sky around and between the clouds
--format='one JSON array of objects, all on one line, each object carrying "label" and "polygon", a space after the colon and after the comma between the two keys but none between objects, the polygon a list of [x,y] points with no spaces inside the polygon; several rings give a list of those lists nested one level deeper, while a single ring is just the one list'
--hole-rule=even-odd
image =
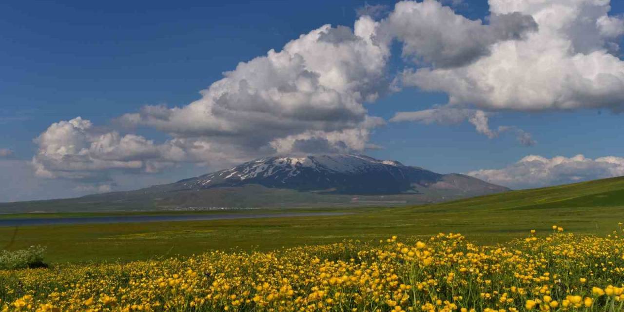
[{"label": "clear blue sky around and between the clouds", "polygon": [[[47,172],[52,172],[50,175],[36,175],[30,163],[34,155],[42,155],[42,145],[34,142],[36,137],[46,132],[51,124],[78,116],[90,120],[99,129],[98,133],[114,130],[122,135],[141,135],[154,140],[155,144],[163,144],[179,134],[172,134],[171,131],[147,122],[135,127],[122,127],[115,120],[124,114],[139,112],[145,105],[185,107],[202,98],[198,93],[200,90],[207,89],[213,82],[222,79],[223,72],[233,71],[239,62],[266,56],[270,49],[279,52],[287,42],[324,24],[334,27],[344,25],[353,29],[354,22],[359,18],[357,10],[365,6],[379,7],[383,11],[382,16],[373,18],[380,21],[392,14],[394,3],[1,2],[0,150],[10,152],[0,158],[0,162],[4,162],[4,167],[0,163],[0,168],[4,168],[9,180],[19,179],[26,182],[19,185],[19,190],[16,190],[15,185],[4,185],[5,191],[0,191],[0,202],[75,196],[94,190],[144,187],[230,165],[224,161],[210,161],[212,158],[207,157],[206,162],[193,158],[192,161],[180,161],[155,172],[112,170],[110,175],[107,173],[107,178],[112,177],[115,181],[111,186],[108,182],[102,182],[103,180],[94,180],[94,175],[91,174],[89,178],[85,178],[85,175],[73,178],[51,168],[46,168]],[[454,4],[444,2],[444,5],[458,16],[470,20],[481,19],[484,25],[489,24],[490,6],[487,1],[465,0]],[[612,1],[610,6],[608,16],[618,18],[624,14],[622,1]],[[609,25],[615,25],[613,29],[617,31],[619,24],[614,20]],[[540,25],[539,29],[542,31],[544,27]],[[452,32],[453,29],[446,31]],[[530,34],[531,30],[526,32]],[[403,40],[408,42],[410,38]],[[401,42],[401,39],[398,41]],[[488,41],[490,43],[492,46],[498,44]],[[622,36],[617,33],[604,39],[600,46],[592,47],[592,51],[610,49],[610,56],[622,60],[621,51],[613,50],[613,44],[621,43]],[[424,58],[423,62],[411,62],[409,56],[402,56],[401,52],[405,54],[405,51],[402,51],[400,43],[391,44],[389,49],[391,52],[384,63],[386,77],[394,78],[406,68],[441,68],[434,61],[427,62],[426,53],[422,54],[418,48],[414,54],[422,54],[417,57]],[[581,53],[591,52],[582,49],[584,48],[578,47]],[[470,62],[479,62],[482,58],[487,58],[487,55]],[[435,56],[431,57],[435,59]],[[553,71],[557,69],[550,72]],[[517,142],[514,131],[496,133],[489,138],[477,132],[468,118],[461,122],[442,123],[422,119],[417,122],[388,121],[397,112],[446,107],[449,103],[449,91],[444,87],[440,90],[424,89],[427,88],[422,83],[404,84],[400,90],[382,92],[376,100],[361,101],[369,116],[381,117],[386,120],[386,124],[369,129],[370,133],[366,138],[366,144],[378,145],[381,149],[359,152],[442,173],[507,168],[527,155],[540,155],[547,160],[559,155],[573,157],[577,154],[592,159],[624,157],[622,115],[614,113],[622,110],[624,103],[618,105],[621,94],[617,91],[600,94],[598,99],[579,95],[580,104],[577,103],[578,99],[552,105],[545,102],[538,109],[524,109],[520,104],[514,106],[513,97],[509,100],[509,105],[501,104],[496,108],[493,108],[495,101],[490,104],[489,99],[484,99],[484,102],[460,101],[463,103],[462,107],[471,109],[471,112],[473,109],[484,110],[491,129],[505,125],[530,133],[535,144],[525,146]],[[583,100],[587,101],[587,105]],[[607,104],[595,105],[597,102]],[[574,105],[567,107],[570,103]],[[298,133],[292,132],[293,135]],[[229,149],[224,147],[223,150]],[[240,151],[241,148],[236,147],[233,150]],[[238,160],[260,156],[263,152],[255,150],[244,155],[236,153],[232,158]],[[594,163],[588,164],[585,160],[583,163],[585,165],[580,166],[583,170],[594,170],[591,167]],[[610,173],[600,171],[605,170],[600,167],[600,170],[595,169],[600,174],[594,176],[583,172],[578,177],[585,179],[615,175],[621,168],[613,163],[615,162],[607,166],[613,167],[613,170],[607,170]],[[592,169],[587,169],[587,166]],[[20,169],[17,170],[17,167]],[[569,171],[578,167],[564,169]],[[505,172],[496,172],[502,173]],[[578,178],[576,173],[567,175],[571,177],[570,181]],[[475,173],[475,176],[489,178],[493,182],[504,181],[496,180],[499,176],[494,173]],[[544,180],[525,177],[522,183],[507,181],[507,185],[531,187],[534,184],[529,182],[537,179],[535,186],[541,186],[557,183],[559,178],[561,177],[549,177]]]}]

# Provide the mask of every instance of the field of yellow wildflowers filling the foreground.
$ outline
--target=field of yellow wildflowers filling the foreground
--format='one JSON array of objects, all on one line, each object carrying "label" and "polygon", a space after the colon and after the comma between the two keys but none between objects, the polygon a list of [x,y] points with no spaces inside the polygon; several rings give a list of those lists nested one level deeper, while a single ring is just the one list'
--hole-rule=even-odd
[{"label": "field of yellow wildflowers filling the foreground", "polygon": [[0,271],[0,311],[624,311],[624,240],[393,236]]}]

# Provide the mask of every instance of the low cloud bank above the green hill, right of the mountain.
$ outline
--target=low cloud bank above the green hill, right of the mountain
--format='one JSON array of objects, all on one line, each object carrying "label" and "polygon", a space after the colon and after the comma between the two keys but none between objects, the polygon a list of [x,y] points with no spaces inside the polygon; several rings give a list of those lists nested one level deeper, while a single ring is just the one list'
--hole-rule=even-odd
[{"label": "low cloud bank above the green hill, right of the mountain", "polygon": [[592,159],[583,155],[546,158],[529,155],[505,168],[482,169],[467,174],[511,188],[545,187],[622,176],[624,158],[608,156]]}]

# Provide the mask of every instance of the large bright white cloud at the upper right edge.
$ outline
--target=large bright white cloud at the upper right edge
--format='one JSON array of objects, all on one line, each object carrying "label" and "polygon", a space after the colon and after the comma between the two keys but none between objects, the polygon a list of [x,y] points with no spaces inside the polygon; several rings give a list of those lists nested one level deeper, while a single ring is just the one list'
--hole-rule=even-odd
[{"label": "large bright white cloud at the upper right edge", "polygon": [[[487,110],[605,107],[621,111],[624,61],[610,52],[618,49],[624,19],[608,15],[609,2],[490,0],[492,16],[531,16],[537,22],[537,30],[525,32],[523,40],[494,42],[487,54],[469,43],[453,41],[458,47],[450,51],[466,52],[442,52],[442,56],[451,61],[456,58],[474,61],[459,62],[461,66],[456,67],[407,70],[402,82],[424,90],[446,92],[452,105],[475,105]],[[407,51],[416,51],[423,57],[431,54],[417,48]]]}]

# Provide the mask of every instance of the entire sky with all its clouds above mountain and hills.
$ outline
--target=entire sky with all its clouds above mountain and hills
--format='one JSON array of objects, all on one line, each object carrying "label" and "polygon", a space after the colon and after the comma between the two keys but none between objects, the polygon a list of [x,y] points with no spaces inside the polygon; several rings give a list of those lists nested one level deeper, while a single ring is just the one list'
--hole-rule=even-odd
[{"label": "entire sky with all its clouds above mountain and hills", "polygon": [[512,188],[624,175],[624,3],[2,1],[0,202],[361,153]]}]

